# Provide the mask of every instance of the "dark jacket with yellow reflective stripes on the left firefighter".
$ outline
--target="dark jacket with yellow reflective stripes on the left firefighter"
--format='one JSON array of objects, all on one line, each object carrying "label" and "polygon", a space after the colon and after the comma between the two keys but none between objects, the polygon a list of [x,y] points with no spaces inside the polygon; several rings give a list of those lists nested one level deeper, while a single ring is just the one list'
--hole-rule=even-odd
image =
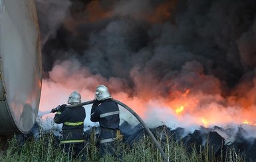
[{"label": "dark jacket with yellow reflective stripes on the left firefighter", "polygon": [[61,144],[84,142],[83,132],[85,116],[85,110],[82,106],[64,108],[64,110],[57,111],[53,120],[57,124],[63,124],[63,138]]}]

